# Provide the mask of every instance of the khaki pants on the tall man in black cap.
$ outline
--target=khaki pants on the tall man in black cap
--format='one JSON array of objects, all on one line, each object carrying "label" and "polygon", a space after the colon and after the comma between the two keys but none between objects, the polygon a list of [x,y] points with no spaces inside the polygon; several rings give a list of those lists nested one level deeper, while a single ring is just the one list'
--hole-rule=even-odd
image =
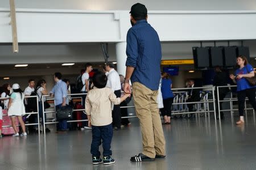
[{"label": "khaki pants on the tall man in black cap", "polygon": [[157,96],[158,90],[152,91],[141,83],[133,83],[134,105],[141,124],[142,154],[150,158],[155,158],[155,155],[166,155],[166,141],[156,103]]}]

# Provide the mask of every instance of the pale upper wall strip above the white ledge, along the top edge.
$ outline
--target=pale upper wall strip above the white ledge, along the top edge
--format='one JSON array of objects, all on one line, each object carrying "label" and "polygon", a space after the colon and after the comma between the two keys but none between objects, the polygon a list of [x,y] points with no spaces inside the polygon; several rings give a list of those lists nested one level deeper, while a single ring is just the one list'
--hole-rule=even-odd
[{"label": "pale upper wall strip above the white ledge, along the top edge", "polygon": [[[254,0],[16,0],[18,8],[52,8],[79,10],[129,10],[134,3],[143,3],[148,10],[255,10]],[[0,7],[9,7],[1,0]]]}]

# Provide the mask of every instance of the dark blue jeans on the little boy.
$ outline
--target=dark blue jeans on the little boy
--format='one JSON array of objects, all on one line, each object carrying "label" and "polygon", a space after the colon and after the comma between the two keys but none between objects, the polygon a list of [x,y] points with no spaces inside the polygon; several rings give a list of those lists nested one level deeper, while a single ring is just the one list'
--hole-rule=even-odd
[{"label": "dark blue jeans on the little boy", "polygon": [[92,156],[99,157],[101,155],[100,151],[98,151],[98,147],[101,145],[101,140],[103,147],[103,156],[112,155],[112,151],[110,150],[112,137],[112,124],[106,126],[92,125],[92,145],[90,145],[90,153],[92,154]]}]

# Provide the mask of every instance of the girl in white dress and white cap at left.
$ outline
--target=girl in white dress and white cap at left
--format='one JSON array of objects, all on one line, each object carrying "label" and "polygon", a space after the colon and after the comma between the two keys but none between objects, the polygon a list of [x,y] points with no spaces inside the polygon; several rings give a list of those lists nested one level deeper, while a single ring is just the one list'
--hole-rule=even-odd
[{"label": "girl in white dress and white cap at left", "polygon": [[15,118],[18,117],[19,124],[22,127],[23,133],[20,136],[26,136],[27,133],[25,131],[25,124],[22,120],[22,116],[26,114],[24,107],[24,94],[19,87],[19,84],[13,84],[13,93],[11,93],[11,97],[8,104],[8,116],[11,118],[11,125],[15,131],[13,137],[18,137],[19,133],[15,124]]}]

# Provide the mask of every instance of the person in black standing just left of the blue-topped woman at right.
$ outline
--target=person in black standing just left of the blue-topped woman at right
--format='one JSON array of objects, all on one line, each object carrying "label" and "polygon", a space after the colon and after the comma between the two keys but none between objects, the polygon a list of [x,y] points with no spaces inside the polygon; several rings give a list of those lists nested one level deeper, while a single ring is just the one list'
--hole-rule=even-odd
[{"label": "person in black standing just left of the blue-topped woman at right", "polygon": [[[217,114],[217,119],[218,117],[218,110],[222,110],[222,102],[220,102],[220,108],[218,108],[218,99],[219,100],[223,100],[226,96],[226,94],[229,92],[228,88],[219,88],[218,89],[218,99],[217,99],[217,86],[227,86],[228,84],[228,76],[226,73],[221,71],[220,66],[216,66],[214,68],[215,70],[215,76],[213,78],[213,86],[216,86],[215,88],[215,101],[216,101],[216,114]],[[224,118],[224,114],[221,111],[220,112],[220,118],[223,119]]]}]

